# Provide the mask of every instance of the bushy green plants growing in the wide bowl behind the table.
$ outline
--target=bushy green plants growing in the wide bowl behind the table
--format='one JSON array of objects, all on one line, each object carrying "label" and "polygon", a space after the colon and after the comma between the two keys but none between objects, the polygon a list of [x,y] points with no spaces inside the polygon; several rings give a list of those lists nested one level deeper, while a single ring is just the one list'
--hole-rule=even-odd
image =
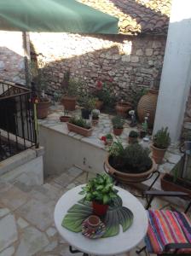
[{"label": "bushy green plants growing in the wide bowl behind the table", "polygon": [[109,162],[116,170],[120,172],[146,172],[153,162],[149,157],[149,149],[135,143],[126,148],[122,143],[114,142],[109,148]]}]

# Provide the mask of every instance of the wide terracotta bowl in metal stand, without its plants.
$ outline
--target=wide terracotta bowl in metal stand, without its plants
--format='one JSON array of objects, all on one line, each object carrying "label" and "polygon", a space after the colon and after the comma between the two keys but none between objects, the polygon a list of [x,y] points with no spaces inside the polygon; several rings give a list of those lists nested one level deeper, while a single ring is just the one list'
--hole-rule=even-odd
[{"label": "wide terracotta bowl in metal stand, without its plants", "polygon": [[121,183],[141,183],[142,181],[146,180],[149,175],[151,175],[151,173],[156,169],[155,162],[154,160],[152,161],[153,165],[151,168],[148,171],[142,173],[125,173],[115,170],[113,166],[110,166],[109,164],[109,155],[107,155],[107,159],[105,160],[104,165],[107,166],[108,174]]}]

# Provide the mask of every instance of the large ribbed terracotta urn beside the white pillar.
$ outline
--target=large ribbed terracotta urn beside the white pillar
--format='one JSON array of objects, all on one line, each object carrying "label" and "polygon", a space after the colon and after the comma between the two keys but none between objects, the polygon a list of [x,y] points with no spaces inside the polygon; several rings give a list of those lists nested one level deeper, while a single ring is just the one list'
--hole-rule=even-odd
[{"label": "large ribbed terracotta urn beside the white pillar", "polygon": [[157,108],[158,90],[148,90],[146,95],[143,95],[137,105],[137,115],[141,123],[148,116],[148,127],[153,128],[155,112]]}]

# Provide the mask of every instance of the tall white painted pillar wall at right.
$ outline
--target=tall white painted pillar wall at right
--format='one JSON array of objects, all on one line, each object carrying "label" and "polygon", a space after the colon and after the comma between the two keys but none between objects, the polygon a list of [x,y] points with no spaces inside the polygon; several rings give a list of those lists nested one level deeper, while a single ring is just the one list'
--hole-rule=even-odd
[{"label": "tall white painted pillar wall at right", "polygon": [[177,143],[191,81],[191,1],[173,0],[153,133],[168,126]]}]

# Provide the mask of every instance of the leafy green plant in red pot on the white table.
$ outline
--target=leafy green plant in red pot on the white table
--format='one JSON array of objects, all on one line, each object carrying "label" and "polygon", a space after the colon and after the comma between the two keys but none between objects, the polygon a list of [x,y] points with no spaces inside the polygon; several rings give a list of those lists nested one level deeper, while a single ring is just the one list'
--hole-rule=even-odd
[{"label": "leafy green plant in red pot on the white table", "polygon": [[80,195],[85,195],[85,201],[92,201],[93,212],[99,216],[106,214],[108,206],[117,197],[117,193],[113,179],[106,173],[97,174],[79,192]]}]

